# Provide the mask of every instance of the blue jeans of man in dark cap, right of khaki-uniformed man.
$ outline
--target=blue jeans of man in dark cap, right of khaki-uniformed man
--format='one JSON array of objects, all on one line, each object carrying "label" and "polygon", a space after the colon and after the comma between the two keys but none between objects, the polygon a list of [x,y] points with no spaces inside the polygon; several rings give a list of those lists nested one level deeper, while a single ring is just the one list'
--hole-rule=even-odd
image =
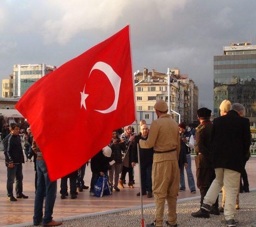
[{"label": "blue jeans of man in dark cap, right of khaki-uniformed man", "polygon": [[[187,156],[186,158],[188,161],[188,167],[186,168],[187,177],[188,177],[188,187],[190,191],[192,191],[192,190],[196,190],[196,186],[195,186],[194,176],[191,170],[191,156]],[[184,165],[180,167],[180,189],[186,189],[185,177],[184,177]]]}]

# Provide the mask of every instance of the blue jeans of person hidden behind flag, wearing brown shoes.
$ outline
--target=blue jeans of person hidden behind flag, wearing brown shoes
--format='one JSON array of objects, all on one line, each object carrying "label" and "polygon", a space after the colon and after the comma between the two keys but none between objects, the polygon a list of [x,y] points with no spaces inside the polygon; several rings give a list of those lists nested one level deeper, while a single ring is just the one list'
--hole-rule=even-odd
[{"label": "blue jeans of person hidden behind flag, wearing brown shoes", "polygon": [[44,195],[46,195],[43,224],[47,224],[52,221],[52,212],[57,193],[57,181],[50,181],[44,160],[36,160],[36,169],[37,187],[33,221],[34,225],[39,225],[42,221]]}]

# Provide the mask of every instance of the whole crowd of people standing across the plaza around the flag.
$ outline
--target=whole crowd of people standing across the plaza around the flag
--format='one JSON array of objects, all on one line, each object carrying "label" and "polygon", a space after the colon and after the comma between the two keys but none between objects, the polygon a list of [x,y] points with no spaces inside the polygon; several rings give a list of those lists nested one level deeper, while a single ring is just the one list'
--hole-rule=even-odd
[{"label": "whole crowd of people standing across the plaza around the flag", "polygon": [[[89,194],[95,195],[94,186],[100,176],[107,177],[111,191],[119,192],[126,186],[134,188],[134,167],[140,156],[142,195],[156,201],[156,214],[148,227],[162,226],[165,200],[168,202],[166,224],[177,226],[176,202],[179,191],[185,191],[184,169],[188,179],[188,188],[196,193],[192,174],[191,149],[195,149],[197,188],[200,190],[200,210],[193,217],[210,217],[210,213],[219,215],[224,212],[222,221],[228,226],[236,226],[234,216],[239,209],[239,191],[249,192],[245,164],[250,157],[250,126],[244,118],[244,107],[224,100],[220,105],[220,117],[210,121],[211,111],[198,110],[200,125],[195,129],[184,122],[177,124],[167,114],[168,106],[159,100],[154,105],[158,119],[148,128],[145,120],[140,121],[140,133],[136,135],[131,125],[123,131],[113,130],[108,146],[102,148],[91,160],[92,178]],[[8,130],[9,132],[8,132]],[[61,222],[52,219],[57,194],[57,182],[51,182],[44,157],[33,138],[29,127],[21,129],[16,123],[4,127],[4,154],[7,167],[7,197],[10,201],[26,199],[23,193],[22,163],[34,159],[35,202],[34,225],[41,222],[44,226],[57,226]],[[24,142],[24,148],[22,147]],[[84,175],[88,162],[78,170],[61,178],[60,198],[68,196],[68,178],[70,197],[76,199],[78,192],[89,189],[84,184]],[[240,177],[242,173],[242,177]],[[241,178],[241,179],[240,179]],[[242,180],[244,185],[242,184]],[[16,183],[16,198],[13,184]],[[239,184],[240,182],[240,184]],[[239,190],[240,188],[240,190]],[[218,207],[218,194],[222,190],[222,204]],[[140,196],[140,192],[136,194]],[[43,202],[45,209],[43,218]]]}]

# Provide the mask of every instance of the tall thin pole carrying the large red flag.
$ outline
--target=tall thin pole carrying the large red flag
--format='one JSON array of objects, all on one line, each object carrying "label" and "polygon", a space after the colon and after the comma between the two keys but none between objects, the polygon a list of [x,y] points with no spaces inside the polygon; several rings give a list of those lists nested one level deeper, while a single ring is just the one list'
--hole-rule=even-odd
[{"label": "tall thin pole carrying the large red flag", "polygon": [[[131,42],[131,30],[129,24],[129,36],[130,36],[130,50],[131,50],[131,61],[132,61],[132,42]],[[132,84],[133,84],[133,97],[134,97],[134,111],[135,111],[135,132],[138,135],[138,120],[137,120],[137,111],[136,111],[136,98],[135,98],[135,85],[134,85],[134,75],[132,67]],[[140,172],[140,146],[137,143],[137,154],[138,154],[138,168],[139,168],[139,182],[140,182],[140,207],[141,207],[141,227],[144,227],[144,215],[143,215],[143,200],[142,200],[142,183],[141,183],[141,172]]]}]

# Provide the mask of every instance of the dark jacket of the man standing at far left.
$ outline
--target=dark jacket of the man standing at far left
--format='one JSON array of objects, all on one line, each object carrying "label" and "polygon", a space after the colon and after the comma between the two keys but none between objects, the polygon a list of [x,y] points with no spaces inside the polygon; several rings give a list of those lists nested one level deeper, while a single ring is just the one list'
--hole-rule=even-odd
[{"label": "dark jacket of the man standing at far left", "polygon": [[4,155],[7,166],[12,162],[14,164],[24,163],[20,136],[14,136],[10,133],[6,138],[4,138]]}]

